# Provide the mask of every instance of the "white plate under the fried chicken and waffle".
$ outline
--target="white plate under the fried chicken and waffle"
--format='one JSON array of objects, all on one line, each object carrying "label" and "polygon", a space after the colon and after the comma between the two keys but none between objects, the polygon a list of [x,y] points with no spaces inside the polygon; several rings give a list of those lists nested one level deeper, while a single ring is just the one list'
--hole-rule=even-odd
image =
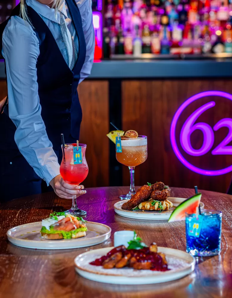
[{"label": "white plate under the fried chicken and waffle", "polygon": [[[174,207],[177,207],[180,203],[186,200],[186,198],[168,198],[169,201],[173,203]],[[128,200],[119,201],[114,204],[114,211],[124,217],[128,218],[136,218],[136,219],[146,219],[146,220],[162,220],[162,219],[169,219],[171,216],[171,213],[173,212],[174,208],[170,208],[166,211],[148,211],[148,210],[136,210],[136,211],[127,211],[122,210],[122,204],[127,202]],[[204,209],[204,203],[200,202],[200,208],[201,210]]]}]

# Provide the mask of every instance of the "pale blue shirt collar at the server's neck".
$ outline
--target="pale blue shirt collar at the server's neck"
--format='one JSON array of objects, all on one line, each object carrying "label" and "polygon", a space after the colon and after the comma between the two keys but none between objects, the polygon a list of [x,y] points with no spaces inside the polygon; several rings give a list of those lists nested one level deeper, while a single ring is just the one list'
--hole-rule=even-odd
[{"label": "pale blue shirt collar at the server's neck", "polygon": [[37,13],[42,15],[44,18],[49,19],[50,21],[56,22],[60,24],[60,12],[64,14],[64,16],[67,18],[67,12],[65,7],[65,1],[62,1],[62,4],[58,10],[57,17],[55,16],[55,9],[50,8],[49,6],[40,3],[36,0],[26,0],[26,3],[28,6],[33,8]]}]

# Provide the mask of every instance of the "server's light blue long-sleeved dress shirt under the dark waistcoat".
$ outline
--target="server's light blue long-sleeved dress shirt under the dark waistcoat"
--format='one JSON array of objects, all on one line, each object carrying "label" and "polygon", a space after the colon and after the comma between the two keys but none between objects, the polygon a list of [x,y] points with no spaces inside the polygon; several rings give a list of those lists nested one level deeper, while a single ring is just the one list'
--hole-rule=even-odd
[{"label": "server's light blue long-sleeved dress shirt under the dark waistcoat", "polygon": [[[60,30],[60,13],[64,14],[67,27],[73,37],[77,52],[78,38],[73,27],[65,1],[57,16],[55,10],[36,0],[26,0],[42,17],[52,32],[59,49],[68,64],[67,49]],[[86,41],[86,59],[81,70],[81,79],[88,75],[93,64],[95,35],[92,19],[92,1],[76,0],[82,17],[82,27]],[[59,163],[48,139],[46,128],[41,117],[39,104],[36,62],[39,56],[39,41],[30,24],[22,18],[13,16],[2,37],[2,54],[6,61],[9,116],[16,125],[15,141],[27,162],[34,168],[38,176],[49,182],[59,175]],[[71,43],[70,43],[70,46]],[[80,45],[81,46],[81,45]],[[59,63],[59,61],[54,61]]]}]

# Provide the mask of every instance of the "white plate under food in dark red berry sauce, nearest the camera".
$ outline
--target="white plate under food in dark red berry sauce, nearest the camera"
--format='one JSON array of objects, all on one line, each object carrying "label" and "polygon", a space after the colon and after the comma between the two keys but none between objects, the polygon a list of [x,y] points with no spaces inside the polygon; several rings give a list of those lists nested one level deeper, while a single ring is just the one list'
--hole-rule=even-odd
[{"label": "white plate under food in dark red berry sauce, nearest the camera", "polygon": [[158,252],[164,252],[168,262],[168,271],[135,270],[133,268],[104,269],[102,266],[93,266],[89,263],[99,258],[113,247],[101,248],[85,252],[74,260],[76,271],[83,277],[101,283],[113,283],[121,285],[146,285],[164,283],[176,280],[190,274],[196,260],[187,252],[181,250],[158,247]]}]

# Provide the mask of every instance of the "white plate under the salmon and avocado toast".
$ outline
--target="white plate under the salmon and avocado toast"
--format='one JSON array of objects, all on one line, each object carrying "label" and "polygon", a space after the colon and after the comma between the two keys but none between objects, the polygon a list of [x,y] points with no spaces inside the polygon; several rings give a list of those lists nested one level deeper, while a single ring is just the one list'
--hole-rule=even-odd
[{"label": "white plate under the salmon and avocado toast", "polygon": [[77,239],[46,240],[41,238],[41,221],[16,226],[7,231],[8,240],[21,247],[33,249],[72,249],[92,246],[110,238],[111,229],[105,224],[86,222],[88,231],[85,237]]}]

